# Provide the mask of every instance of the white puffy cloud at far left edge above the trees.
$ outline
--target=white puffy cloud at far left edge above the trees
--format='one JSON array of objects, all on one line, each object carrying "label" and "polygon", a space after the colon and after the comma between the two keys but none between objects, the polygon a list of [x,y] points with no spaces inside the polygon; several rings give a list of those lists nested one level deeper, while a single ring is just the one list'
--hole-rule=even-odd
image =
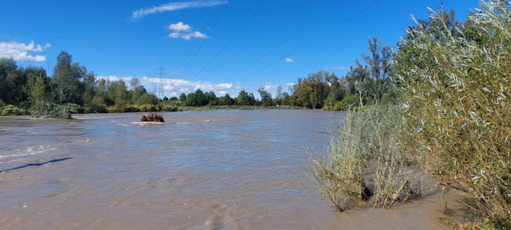
[{"label": "white puffy cloud at far left edge above the trees", "polygon": [[15,41],[0,42],[0,58],[13,58],[16,61],[43,62],[46,56],[29,55],[28,52],[42,52],[45,48],[51,47],[50,43],[35,45],[34,41],[29,44],[19,43]]}]

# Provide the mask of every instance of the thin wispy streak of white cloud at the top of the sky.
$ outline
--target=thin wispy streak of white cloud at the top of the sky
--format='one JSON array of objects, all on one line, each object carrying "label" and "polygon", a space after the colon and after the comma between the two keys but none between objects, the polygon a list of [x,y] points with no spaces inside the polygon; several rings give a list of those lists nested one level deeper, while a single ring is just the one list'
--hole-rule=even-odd
[{"label": "thin wispy streak of white cloud at the top of the sky", "polygon": [[176,11],[188,8],[199,8],[199,7],[211,7],[216,6],[218,4],[226,4],[227,2],[222,3],[220,0],[213,1],[189,1],[189,2],[177,2],[177,3],[167,3],[159,6],[153,6],[150,8],[139,9],[133,11],[132,17],[133,19],[141,18],[147,16],[149,14],[161,13],[165,11]]}]

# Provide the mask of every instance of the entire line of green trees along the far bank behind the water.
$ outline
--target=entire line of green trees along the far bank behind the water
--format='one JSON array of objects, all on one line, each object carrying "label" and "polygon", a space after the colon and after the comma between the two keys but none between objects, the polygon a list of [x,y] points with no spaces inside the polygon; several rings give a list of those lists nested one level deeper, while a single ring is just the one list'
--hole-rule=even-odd
[{"label": "entire line of green trees along the far bank behind the water", "polygon": [[[179,97],[160,99],[148,93],[136,76],[128,83],[100,79],[94,71],[73,62],[71,54],[65,51],[57,56],[52,76],[41,67],[18,67],[13,59],[3,58],[0,59],[0,114],[59,117],[56,114],[73,112],[176,111],[183,106],[291,106],[338,111],[393,103],[396,95],[389,84],[391,49],[376,37],[368,43],[369,55],[361,55],[366,65],[355,59],[356,66],[341,78],[326,71],[310,73],[306,78],[298,78],[289,87],[290,92],[278,86],[275,97],[261,87],[257,90],[259,98],[245,90],[233,98],[229,94],[217,97],[213,91],[197,89]],[[69,111],[68,107],[75,110]]]}]

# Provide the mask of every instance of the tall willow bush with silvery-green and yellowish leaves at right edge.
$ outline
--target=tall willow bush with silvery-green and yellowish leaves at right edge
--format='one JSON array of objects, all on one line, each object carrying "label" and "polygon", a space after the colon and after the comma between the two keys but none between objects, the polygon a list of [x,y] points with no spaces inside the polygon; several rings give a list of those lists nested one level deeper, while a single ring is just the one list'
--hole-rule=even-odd
[{"label": "tall willow bush with silvery-green and yellowish leaves at right edge", "polygon": [[481,2],[462,26],[416,22],[399,43],[394,78],[403,121],[436,179],[476,201],[476,216],[511,226],[511,14],[507,2]]}]

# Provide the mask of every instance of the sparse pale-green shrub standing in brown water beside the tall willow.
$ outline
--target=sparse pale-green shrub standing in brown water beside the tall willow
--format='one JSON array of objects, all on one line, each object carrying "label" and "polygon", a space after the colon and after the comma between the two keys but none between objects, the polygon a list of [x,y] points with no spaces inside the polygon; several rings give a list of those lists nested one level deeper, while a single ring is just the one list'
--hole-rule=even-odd
[{"label": "sparse pale-green shrub standing in brown water beside the tall willow", "polygon": [[332,132],[328,156],[311,155],[318,191],[340,211],[369,199],[389,208],[421,197],[422,173],[407,158],[403,134],[395,109],[349,109]]}]

